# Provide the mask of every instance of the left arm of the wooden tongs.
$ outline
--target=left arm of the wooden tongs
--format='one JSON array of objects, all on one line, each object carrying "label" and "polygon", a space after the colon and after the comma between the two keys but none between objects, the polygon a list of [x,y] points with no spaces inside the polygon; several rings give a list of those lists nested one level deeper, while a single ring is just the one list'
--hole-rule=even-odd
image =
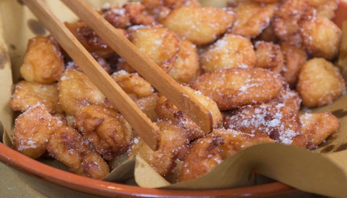
[{"label": "left arm of the wooden tongs", "polygon": [[65,25],[55,17],[42,0],[24,0],[61,47],[73,58],[91,82],[117,108],[135,132],[153,150],[159,147],[159,128],[137,107],[126,92],[105,72]]}]

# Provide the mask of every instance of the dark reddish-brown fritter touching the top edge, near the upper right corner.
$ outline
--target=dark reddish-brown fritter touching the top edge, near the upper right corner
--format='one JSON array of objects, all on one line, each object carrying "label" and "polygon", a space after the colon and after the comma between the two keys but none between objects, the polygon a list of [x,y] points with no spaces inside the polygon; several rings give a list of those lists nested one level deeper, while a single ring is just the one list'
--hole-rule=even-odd
[{"label": "dark reddish-brown fritter touching the top edge, near the upper right corner", "polygon": [[276,11],[273,21],[274,33],[280,40],[300,43],[298,21],[308,8],[306,0],[286,0]]}]

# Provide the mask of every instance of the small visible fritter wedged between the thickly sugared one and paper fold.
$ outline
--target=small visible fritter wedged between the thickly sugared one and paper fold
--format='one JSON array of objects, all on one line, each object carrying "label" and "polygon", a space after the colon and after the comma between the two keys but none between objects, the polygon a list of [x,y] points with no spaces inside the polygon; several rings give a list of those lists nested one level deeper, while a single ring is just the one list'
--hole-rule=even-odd
[{"label": "small visible fritter wedged between the thickly sugared one and paper fold", "polygon": [[247,147],[256,144],[274,143],[274,140],[267,135],[252,136],[233,129],[218,128],[213,131],[213,134],[223,139],[224,144],[221,145],[222,152],[220,153],[223,160]]}]

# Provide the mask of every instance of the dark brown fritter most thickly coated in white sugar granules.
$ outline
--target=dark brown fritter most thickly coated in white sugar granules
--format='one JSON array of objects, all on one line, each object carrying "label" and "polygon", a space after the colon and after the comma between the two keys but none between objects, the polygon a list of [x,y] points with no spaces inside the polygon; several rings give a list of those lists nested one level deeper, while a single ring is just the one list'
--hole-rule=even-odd
[{"label": "dark brown fritter most thickly coated in white sugar granules", "polygon": [[306,146],[305,136],[300,132],[299,116],[282,103],[238,108],[233,115],[224,118],[224,127],[256,137],[268,135],[282,144]]}]

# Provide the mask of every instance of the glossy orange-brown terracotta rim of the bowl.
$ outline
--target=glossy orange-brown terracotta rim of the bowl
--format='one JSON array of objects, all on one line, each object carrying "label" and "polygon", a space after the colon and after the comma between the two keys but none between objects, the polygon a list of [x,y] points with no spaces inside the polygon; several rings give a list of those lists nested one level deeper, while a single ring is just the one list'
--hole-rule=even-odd
[{"label": "glossy orange-brown terracotta rim of the bowl", "polygon": [[[340,2],[336,11],[334,22],[342,27],[342,22],[347,19],[347,3]],[[265,197],[297,193],[298,190],[280,183],[232,188],[219,190],[162,190],[148,189],[125,184],[93,180],[62,171],[30,159],[17,151],[0,143],[0,161],[8,166],[30,176],[36,176],[52,184],[68,188],[81,193],[104,197]]]}]

